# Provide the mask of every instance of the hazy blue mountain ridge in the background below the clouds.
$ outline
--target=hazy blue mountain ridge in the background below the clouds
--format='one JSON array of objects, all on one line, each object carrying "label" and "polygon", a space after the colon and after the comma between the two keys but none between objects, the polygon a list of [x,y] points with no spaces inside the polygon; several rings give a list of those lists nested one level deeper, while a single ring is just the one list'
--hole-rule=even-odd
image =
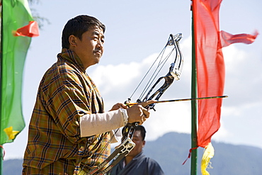
[{"label": "hazy blue mountain ridge in the background below the clouds", "polygon": [[[262,149],[248,145],[232,145],[212,141],[215,156],[211,159],[210,175],[260,175],[262,174]],[[166,175],[190,174],[190,134],[168,132],[156,140],[147,141],[144,154],[155,159]],[[198,174],[203,148],[198,148]],[[8,159],[3,162],[3,175],[18,175],[22,171],[23,159]],[[10,172],[11,171],[11,172]]]}]

